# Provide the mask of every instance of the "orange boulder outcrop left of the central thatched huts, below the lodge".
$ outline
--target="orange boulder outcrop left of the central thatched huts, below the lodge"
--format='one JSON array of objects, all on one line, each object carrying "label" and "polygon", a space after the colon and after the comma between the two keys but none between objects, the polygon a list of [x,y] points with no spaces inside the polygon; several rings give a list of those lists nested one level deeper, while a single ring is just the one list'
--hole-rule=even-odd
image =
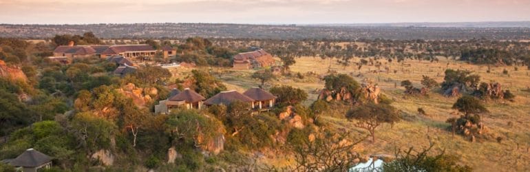
[{"label": "orange boulder outcrop left of the central thatched huts, below the lodge", "polygon": [[136,87],[133,83],[124,85],[118,89],[118,92],[131,98],[138,107],[145,107],[151,103],[153,97],[158,96],[158,89],[155,87],[140,88]]}]

